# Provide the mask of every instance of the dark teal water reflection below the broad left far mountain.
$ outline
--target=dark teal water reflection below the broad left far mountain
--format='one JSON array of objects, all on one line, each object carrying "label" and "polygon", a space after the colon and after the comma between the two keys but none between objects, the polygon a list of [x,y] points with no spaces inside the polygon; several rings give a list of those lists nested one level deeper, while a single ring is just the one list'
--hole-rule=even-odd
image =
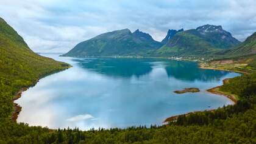
[{"label": "dark teal water reflection below the broad left far mountain", "polygon": [[133,58],[91,58],[85,60],[74,60],[79,62],[85,69],[99,72],[112,77],[140,77],[151,72],[151,64],[145,63],[146,59]]}]

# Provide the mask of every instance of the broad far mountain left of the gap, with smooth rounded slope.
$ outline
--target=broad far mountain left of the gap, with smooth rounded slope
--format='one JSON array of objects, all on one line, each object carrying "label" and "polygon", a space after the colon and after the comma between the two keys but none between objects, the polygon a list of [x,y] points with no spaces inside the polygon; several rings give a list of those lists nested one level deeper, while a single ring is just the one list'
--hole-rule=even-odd
[{"label": "broad far mountain left of the gap, with smooth rounded slope", "polygon": [[146,55],[162,44],[155,41],[148,33],[130,32],[129,29],[103,33],[77,44],[66,57],[93,57],[113,55]]}]

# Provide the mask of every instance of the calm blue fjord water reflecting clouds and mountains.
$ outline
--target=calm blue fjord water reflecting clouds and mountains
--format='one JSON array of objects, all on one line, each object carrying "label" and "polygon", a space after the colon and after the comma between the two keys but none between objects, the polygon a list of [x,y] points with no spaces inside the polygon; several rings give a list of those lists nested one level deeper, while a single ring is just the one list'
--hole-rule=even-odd
[{"label": "calm blue fjord water reflecting clouds and mountains", "polygon": [[[232,104],[205,90],[239,75],[199,69],[191,61],[41,55],[73,67],[42,78],[15,102],[22,107],[18,122],[52,129],[161,125],[172,115]],[[173,92],[185,87],[201,92]]]}]

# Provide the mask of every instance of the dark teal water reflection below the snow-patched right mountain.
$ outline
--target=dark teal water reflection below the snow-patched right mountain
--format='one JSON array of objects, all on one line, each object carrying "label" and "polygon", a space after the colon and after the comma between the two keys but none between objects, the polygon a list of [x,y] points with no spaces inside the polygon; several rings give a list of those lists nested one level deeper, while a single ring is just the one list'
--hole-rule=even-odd
[{"label": "dark teal water reflection below the snow-patched right mountain", "polygon": [[197,63],[191,61],[169,61],[165,69],[168,77],[175,77],[185,81],[219,80],[229,73],[220,70],[199,69]]}]

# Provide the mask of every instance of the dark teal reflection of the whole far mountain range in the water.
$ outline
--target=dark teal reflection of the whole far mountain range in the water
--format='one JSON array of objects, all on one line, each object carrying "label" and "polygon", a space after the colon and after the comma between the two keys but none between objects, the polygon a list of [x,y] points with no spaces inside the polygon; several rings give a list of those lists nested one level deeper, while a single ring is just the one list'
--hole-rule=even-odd
[{"label": "dark teal reflection of the whole far mountain range in the water", "polygon": [[219,70],[199,69],[192,61],[174,61],[150,58],[87,58],[73,60],[79,62],[80,67],[93,70],[112,77],[140,77],[151,72],[154,66],[163,67],[168,77],[185,81],[212,81],[228,74]]}]

